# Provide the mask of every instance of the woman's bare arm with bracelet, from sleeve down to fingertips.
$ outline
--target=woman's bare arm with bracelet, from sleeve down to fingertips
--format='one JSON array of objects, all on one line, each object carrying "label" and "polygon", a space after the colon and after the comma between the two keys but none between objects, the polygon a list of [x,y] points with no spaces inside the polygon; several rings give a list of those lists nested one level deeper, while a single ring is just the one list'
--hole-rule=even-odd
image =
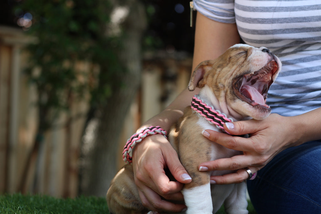
[{"label": "woman's bare arm with bracelet, from sleeve down to fingertips", "polygon": [[[217,58],[239,41],[235,24],[216,22],[197,13],[193,70],[200,62]],[[142,127],[159,125],[168,131],[170,126],[183,115],[184,108],[190,105],[196,93],[198,89],[192,92],[184,90],[169,107],[146,121]],[[182,183],[191,181],[179,162],[177,153],[163,136],[150,135],[134,147],[133,167],[135,184],[144,206],[160,212],[179,212],[186,208],[185,205],[164,201],[160,197],[182,201],[183,196],[180,193]],[[169,181],[164,168],[168,168],[178,182]]]}]

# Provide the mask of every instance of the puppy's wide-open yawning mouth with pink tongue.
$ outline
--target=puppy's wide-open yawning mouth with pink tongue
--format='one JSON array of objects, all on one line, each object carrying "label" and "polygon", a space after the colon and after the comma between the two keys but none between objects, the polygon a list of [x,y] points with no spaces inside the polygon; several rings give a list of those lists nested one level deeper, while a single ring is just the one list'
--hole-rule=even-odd
[{"label": "puppy's wide-open yawning mouth with pink tongue", "polygon": [[252,106],[270,108],[266,105],[267,91],[277,69],[278,65],[273,59],[260,70],[237,77],[233,81],[236,95]]}]

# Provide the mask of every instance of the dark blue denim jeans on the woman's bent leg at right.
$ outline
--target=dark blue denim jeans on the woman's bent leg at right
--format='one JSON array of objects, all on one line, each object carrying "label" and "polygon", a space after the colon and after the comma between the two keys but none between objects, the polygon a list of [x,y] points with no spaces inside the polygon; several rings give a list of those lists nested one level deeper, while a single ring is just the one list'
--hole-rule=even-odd
[{"label": "dark blue denim jeans on the woman's bent leg at right", "polygon": [[321,140],[291,147],[258,171],[247,189],[257,213],[321,213]]}]

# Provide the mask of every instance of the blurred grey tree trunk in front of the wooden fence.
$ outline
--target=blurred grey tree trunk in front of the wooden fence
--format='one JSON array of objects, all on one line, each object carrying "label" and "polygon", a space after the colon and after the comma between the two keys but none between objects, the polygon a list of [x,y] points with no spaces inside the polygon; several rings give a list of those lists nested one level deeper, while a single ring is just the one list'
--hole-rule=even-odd
[{"label": "blurred grey tree trunk in front of the wooden fence", "polygon": [[143,4],[138,0],[122,2],[124,5],[121,6],[127,8],[129,13],[122,24],[125,37],[118,56],[126,65],[127,71],[122,77],[123,86],[113,90],[107,104],[98,109],[87,127],[91,129],[93,137],[84,142],[90,145],[82,170],[81,193],[85,195],[106,195],[109,183],[116,174],[116,157],[121,155],[117,153],[119,135],[126,113],[140,85],[141,39],[146,27],[145,11]]}]

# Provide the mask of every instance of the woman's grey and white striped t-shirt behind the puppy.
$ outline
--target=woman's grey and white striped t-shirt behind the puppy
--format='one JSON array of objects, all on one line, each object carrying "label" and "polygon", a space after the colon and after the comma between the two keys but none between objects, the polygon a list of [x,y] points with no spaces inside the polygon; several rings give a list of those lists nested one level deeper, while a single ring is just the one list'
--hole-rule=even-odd
[{"label": "woman's grey and white striped t-shirt behind the puppy", "polygon": [[194,0],[210,19],[237,24],[241,38],[282,61],[268,105],[283,116],[321,107],[321,0]]}]

